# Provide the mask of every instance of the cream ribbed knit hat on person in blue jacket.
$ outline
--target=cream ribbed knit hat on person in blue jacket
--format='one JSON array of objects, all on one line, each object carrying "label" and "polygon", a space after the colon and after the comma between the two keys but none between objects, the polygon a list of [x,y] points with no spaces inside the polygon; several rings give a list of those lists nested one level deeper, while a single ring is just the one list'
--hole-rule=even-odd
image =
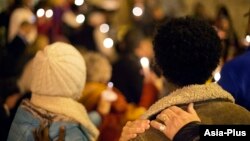
[{"label": "cream ribbed knit hat on person in blue jacket", "polygon": [[73,46],[57,42],[36,54],[32,75],[33,95],[78,99],[85,85],[86,67]]}]

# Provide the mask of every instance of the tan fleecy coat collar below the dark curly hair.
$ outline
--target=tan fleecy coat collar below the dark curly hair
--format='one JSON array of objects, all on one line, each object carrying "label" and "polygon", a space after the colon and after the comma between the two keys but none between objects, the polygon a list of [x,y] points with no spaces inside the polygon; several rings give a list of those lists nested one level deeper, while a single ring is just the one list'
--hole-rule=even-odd
[{"label": "tan fleecy coat collar below the dark curly hair", "polygon": [[142,118],[148,119],[167,107],[208,100],[223,99],[234,103],[234,98],[218,84],[190,85],[175,90],[153,104]]}]

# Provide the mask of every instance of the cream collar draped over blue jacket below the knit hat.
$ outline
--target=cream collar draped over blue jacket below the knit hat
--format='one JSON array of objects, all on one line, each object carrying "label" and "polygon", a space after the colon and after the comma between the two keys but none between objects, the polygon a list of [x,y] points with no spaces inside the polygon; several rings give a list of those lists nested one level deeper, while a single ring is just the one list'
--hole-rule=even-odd
[{"label": "cream collar draped over blue jacket below the knit hat", "polygon": [[98,129],[89,119],[85,107],[77,101],[64,97],[32,94],[31,103],[49,112],[72,118],[82,125],[84,131],[87,131],[87,136],[91,141],[97,140],[99,135]]}]

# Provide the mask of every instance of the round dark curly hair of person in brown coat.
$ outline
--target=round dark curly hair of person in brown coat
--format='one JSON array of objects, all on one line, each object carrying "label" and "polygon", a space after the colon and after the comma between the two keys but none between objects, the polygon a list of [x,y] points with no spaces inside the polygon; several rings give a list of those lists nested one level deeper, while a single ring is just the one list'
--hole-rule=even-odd
[{"label": "round dark curly hair of person in brown coat", "polygon": [[178,86],[204,84],[221,55],[221,42],[214,28],[191,17],[168,20],[158,29],[153,44],[163,75]]}]

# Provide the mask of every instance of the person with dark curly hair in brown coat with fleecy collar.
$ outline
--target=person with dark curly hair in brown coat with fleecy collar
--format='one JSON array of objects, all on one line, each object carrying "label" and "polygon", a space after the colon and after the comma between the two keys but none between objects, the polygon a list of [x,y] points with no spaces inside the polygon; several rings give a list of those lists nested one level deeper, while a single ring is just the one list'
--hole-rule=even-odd
[{"label": "person with dark curly hair in brown coat with fleecy collar", "polygon": [[194,103],[201,124],[250,124],[250,113],[236,105],[230,93],[206,83],[221,56],[220,39],[212,26],[190,17],[173,18],[158,29],[153,44],[156,62],[172,91],[146,111],[143,118],[151,121],[151,127],[134,140],[165,141],[165,120],[174,119],[162,111],[171,106],[186,109],[189,103]]}]

